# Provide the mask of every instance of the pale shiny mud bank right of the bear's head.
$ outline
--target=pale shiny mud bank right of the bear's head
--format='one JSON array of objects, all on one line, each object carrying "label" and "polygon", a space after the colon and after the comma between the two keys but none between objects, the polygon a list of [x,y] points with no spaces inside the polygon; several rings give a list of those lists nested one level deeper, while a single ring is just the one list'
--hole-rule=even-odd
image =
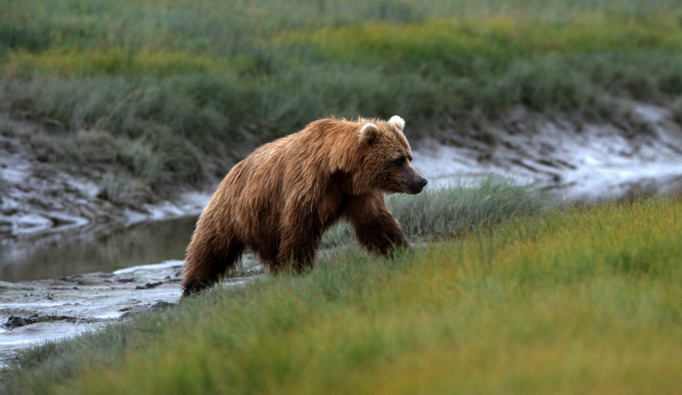
[{"label": "pale shiny mud bank right of the bear's head", "polygon": [[638,104],[632,125],[576,125],[517,108],[493,128],[493,144],[458,135],[426,140],[413,153],[430,185],[490,173],[595,202],[639,193],[682,191],[682,128],[669,110]]}]

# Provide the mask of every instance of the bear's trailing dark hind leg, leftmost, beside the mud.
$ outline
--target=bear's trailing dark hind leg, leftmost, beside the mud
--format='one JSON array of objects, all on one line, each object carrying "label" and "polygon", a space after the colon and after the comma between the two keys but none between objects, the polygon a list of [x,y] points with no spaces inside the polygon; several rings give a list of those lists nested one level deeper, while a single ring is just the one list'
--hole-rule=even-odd
[{"label": "bear's trailing dark hind leg, leftmost, beside the mud", "polygon": [[237,240],[230,240],[218,247],[195,244],[193,240],[187,249],[184,265],[183,298],[218,282],[226,270],[235,268],[243,251],[244,245]]}]

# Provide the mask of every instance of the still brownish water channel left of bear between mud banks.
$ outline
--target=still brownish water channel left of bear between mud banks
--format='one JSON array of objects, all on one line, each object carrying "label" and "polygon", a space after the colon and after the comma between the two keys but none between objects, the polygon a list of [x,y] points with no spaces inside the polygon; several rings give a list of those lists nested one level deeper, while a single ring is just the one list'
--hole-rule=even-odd
[{"label": "still brownish water channel left of bear between mud banks", "polygon": [[0,281],[112,272],[184,259],[196,217],[131,227],[0,238]]}]

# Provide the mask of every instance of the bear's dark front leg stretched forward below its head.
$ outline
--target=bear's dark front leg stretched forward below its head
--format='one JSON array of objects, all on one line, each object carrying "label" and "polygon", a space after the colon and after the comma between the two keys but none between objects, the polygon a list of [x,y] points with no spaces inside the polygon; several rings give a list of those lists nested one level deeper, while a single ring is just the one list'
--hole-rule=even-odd
[{"label": "bear's dark front leg stretched forward below its head", "polygon": [[394,249],[410,247],[398,220],[388,210],[383,193],[353,197],[348,216],[357,242],[362,247],[385,256],[391,255]]}]

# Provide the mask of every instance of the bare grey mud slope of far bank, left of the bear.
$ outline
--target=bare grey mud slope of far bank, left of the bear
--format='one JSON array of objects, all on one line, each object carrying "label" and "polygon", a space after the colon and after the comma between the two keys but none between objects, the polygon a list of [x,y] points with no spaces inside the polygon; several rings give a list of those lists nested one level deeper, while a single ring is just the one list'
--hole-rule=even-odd
[{"label": "bare grey mud slope of far bank, left of the bear", "polygon": [[107,198],[112,186],[106,180],[121,172],[120,167],[50,163],[30,138],[47,133],[44,127],[31,122],[12,125],[19,136],[0,134],[0,238],[198,215],[211,197],[209,191],[180,186],[165,197],[147,192],[117,202]]}]

